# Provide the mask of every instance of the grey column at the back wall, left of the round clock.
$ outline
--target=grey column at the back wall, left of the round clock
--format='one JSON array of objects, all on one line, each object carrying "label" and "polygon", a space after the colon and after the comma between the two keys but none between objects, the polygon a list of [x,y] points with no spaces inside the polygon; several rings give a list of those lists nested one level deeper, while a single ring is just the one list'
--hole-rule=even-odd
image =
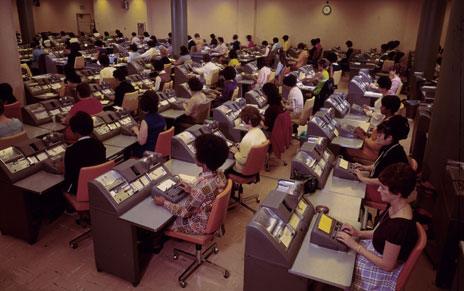
[{"label": "grey column at the back wall, left of the round clock", "polygon": [[175,56],[187,45],[187,0],[171,0],[172,48]]}]

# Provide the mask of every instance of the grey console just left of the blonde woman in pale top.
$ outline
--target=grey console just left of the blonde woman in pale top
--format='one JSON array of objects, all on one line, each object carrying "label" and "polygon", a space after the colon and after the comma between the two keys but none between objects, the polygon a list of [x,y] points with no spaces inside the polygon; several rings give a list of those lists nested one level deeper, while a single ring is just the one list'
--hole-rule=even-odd
[{"label": "grey console just left of the blonde woman in pale top", "polygon": [[213,109],[213,119],[219,123],[219,129],[233,142],[240,142],[242,139],[242,131],[237,126],[240,125],[240,112],[245,106],[245,99],[239,98]]}]

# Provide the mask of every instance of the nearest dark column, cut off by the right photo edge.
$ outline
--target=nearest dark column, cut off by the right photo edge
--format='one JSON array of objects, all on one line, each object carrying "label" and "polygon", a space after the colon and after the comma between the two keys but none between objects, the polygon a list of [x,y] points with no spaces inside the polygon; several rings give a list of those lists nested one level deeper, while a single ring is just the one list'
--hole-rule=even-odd
[{"label": "nearest dark column, cut off by the right photo edge", "polygon": [[464,1],[454,0],[424,154],[424,174],[437,189],[443,185],[446,161],[464,161],[463,30]]}]

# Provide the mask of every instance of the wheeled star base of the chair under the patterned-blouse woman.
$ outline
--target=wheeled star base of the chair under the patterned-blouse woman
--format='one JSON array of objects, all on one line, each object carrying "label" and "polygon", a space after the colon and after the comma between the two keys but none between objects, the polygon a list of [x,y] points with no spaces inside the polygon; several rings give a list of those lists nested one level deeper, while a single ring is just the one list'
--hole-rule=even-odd
[{"label": "wheeled star base of the chair under the patterned-blouse woman", "polygon": [[195,254],[191,254],[189,252],[186,252],[181,249],[174,249],[173,252],[173,259],[177,260],[179,258],[179,255],[183,255],[189,258],[193,258],[193,262],[185,269],[185,271],[179,276],[178,281],[179,285],[182,288],[185,288],[187,286],[186,280],[190,277],[190,275],[195,272],[196,269],[198,269],[201,265],[204,263],[215,267],[216,269],[220,270],[223,273],[224,278],[229,278],[230,273],[227,269],[211,262],[208,260],[208,258],[214,253],[217,254],[219,252],[219,249],[217,248],[217,244],[213,243],[210,245],[206,250],[202,252],[202,246],[201,245],[195,245]]}]

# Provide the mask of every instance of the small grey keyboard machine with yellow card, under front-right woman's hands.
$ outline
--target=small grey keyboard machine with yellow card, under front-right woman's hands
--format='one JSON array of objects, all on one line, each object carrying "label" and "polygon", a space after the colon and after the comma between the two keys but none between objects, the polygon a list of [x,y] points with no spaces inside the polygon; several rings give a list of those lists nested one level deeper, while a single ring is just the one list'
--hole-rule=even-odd
[{"label": "small grey keyboard machine with yellow card, under front-right woman's hands", "polygon": [[313,219],[316,221],[311,230],[310,243],[336,251],[348,251],[348,247],[336,238],[343,225],[340,221],[323,213],[316,214]]}]

